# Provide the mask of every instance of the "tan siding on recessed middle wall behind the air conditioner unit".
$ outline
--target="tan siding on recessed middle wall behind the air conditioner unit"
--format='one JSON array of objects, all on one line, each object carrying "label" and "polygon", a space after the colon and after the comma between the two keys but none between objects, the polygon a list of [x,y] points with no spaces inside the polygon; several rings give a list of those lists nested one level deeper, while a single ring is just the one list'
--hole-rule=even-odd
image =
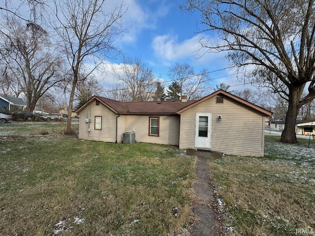
[{"label": "tan siding on recessed middle wall behind the air conditioner unit", "polygon": [[137,142],[179,145],[179,120],[178,116],[159,116],[159,137],[156,137],[149,136],[149,116],[126,116],[126,132],[134,129]]}]

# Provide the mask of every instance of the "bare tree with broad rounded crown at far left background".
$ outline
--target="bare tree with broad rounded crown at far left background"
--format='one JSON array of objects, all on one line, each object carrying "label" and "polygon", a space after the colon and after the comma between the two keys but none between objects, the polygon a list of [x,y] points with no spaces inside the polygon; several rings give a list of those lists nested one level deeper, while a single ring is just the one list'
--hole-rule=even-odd
[{"label": "bare tree with broad rounded crown at far left background", "polygon": [[38,99],[63,80],[63,61],[51,48],[47,31],[38,25],[10,18],[2,30],[0,55],[6,76],[17,84],[14,89],[24,93],[27,110],[33,111]]}]

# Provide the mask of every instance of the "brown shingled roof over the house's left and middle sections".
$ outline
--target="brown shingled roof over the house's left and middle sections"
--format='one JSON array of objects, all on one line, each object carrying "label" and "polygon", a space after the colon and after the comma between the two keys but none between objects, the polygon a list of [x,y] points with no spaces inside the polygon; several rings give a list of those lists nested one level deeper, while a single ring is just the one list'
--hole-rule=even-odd
[{"label": "brown shingled roof over the house's left and middle sections", "polygon": [[189,106],[195,101],[161,101],[161,102],[120,102],[105,97],[94,96],[76,112],[80,112],[87,104],[94,99],[101,102],[116,114],[124,115],[177,115],[177,111]]}]

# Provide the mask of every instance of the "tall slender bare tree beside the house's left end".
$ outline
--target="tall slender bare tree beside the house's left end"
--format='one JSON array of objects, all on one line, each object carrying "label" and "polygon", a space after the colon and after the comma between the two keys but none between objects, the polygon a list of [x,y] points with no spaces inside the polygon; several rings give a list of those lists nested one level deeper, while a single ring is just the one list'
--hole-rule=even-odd
[{"label": "tall slender bare tree beside the house's left end", "polygon": [[[58,21],[55,30],[62,40],[73,78],[68,114],[72,111],[79,74],[89,76],[102,60],[117,52],[115,43],[124,31],[121,18],[125,12],[122,4],[105,12],[105,3],[105,0],[55,0]],[[68,116],[67,133],[70,132]]]}]

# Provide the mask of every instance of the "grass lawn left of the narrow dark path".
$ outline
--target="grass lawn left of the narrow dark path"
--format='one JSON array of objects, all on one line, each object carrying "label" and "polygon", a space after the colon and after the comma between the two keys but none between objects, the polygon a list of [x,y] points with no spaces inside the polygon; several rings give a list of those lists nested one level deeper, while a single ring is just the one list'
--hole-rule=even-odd
[{"label": "grass lawn left of the narrow dark path", "polygon": [[0,125],[0,235],[178,235],[188,226],[194,157],[56,132],[63,124]]}]

